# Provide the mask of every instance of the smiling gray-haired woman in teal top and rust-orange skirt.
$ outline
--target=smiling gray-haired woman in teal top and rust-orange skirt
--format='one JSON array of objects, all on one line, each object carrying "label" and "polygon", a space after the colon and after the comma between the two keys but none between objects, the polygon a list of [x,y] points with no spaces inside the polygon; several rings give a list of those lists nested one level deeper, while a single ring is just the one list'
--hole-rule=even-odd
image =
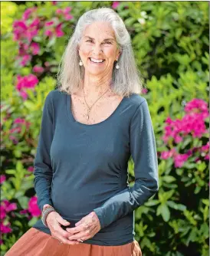
[{"label": "smiling gray-haired woman in teal top and rust-orange skirt", "polygon": [[134,210],[159,189],[156,141],[130,34],[115,11],[80,17],[57,79],[34,159],[42,218],[6,255],[142,255]]}]

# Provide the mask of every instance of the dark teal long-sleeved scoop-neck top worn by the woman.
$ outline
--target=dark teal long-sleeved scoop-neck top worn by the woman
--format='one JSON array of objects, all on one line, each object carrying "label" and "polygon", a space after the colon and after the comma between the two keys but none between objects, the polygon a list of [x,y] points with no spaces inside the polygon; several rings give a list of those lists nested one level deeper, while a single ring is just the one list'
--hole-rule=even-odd
[{"label": "dark teal long-sleeved scoop-neck top worn by the woman", "polygon": [[[135,183],[128,183],[128,161]],[[71,111],[71,95],[52,90],[45,99],[34,159],[38,207],[53,205],[69,227],[95,212],[101,229],[84,243],[134,241],[134,210],[159,189],[156,140],[146,99],[123,97],[106,120],[87,125]],[[41,219],[33,226],[51,235]],[[64,227],[63,227],[64,228]]]}]

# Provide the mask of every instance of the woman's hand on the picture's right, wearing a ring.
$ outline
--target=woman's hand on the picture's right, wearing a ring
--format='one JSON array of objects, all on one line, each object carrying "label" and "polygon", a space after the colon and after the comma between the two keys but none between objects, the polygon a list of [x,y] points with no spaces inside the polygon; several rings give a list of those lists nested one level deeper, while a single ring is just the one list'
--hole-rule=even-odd
[{"label": "woman's hand on the picture's right, wearing a ring", "polygon": [[75,224],[75,228],[67,228],[70,236],[68,237],[69,240],[77,240],[80,239],[87,240],[89,238],[93,238],[98,231],[100,231],[100,221],[97,217],[95,212],[90,212],[89,215],[85,216]]}]

